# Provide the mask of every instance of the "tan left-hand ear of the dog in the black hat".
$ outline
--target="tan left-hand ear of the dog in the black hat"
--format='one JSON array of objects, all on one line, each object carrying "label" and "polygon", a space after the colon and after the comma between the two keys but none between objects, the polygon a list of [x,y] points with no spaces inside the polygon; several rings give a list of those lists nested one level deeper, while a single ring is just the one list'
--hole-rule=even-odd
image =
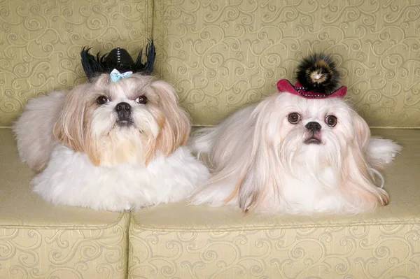
[{"label": "tan left-hand ear of the dog in the black hat", "polygon": [[53,129],[55,138],[75,151],[85,149],[83,121],[86,90],[87,85],[80,85],[66,94],[64,106]]}]

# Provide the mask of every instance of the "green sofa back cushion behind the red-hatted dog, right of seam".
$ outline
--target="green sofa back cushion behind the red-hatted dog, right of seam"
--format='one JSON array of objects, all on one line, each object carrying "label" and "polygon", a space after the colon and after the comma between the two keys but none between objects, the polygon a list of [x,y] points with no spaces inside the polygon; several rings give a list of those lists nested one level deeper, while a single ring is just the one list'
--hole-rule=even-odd
[{"label": "green sofa back cushion behind the red-hatted dog, right of seam", "polygon": [[420,127],[419,5],[356,2],[156,0],[157,71],[194,123],[211,125],[326,51],[372,127]]}]

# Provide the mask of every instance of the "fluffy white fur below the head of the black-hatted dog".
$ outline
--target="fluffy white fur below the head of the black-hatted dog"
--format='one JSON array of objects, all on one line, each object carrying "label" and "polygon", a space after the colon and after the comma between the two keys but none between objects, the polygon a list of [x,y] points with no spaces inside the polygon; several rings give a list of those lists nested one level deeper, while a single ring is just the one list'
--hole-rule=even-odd
[{"label": "fluffy white fur below the head of the black-hatted dog", "polygon": [[207,169],[186,147],[160,154],[148,166],[94,166],[83,152],[58,144],[47,168],[32,181],[47,201],[96,210],[130,210],[180,201],[207,179]]}]

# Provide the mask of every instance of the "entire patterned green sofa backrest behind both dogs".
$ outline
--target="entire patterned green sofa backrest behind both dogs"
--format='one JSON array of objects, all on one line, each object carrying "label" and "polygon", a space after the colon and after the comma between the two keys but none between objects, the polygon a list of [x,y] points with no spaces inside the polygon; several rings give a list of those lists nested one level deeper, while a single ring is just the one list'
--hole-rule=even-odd
[{"label": "entire patterned green sofa backrest behind both dogs", "polygon": [[153,37],[155,73],[176,87],[195,125],[216,124],[276,92],[277,80],[294,81],[302,57],[325,51],[349,87],[347,99],[371,127],[420,127],[420,3],[16,0],[8,5],[0,17],[0,126],[10,126],[29,98],[85,82],[78,55],[84,45],[94,52],[116,46],[136,52]]}]

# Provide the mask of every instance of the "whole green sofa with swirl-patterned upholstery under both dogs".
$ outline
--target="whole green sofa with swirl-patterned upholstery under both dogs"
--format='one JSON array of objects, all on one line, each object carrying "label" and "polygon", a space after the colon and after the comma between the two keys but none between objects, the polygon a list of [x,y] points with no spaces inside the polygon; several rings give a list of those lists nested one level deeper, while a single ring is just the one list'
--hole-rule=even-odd
[{"label": "whole green sofa with swirl-patterned upholstery under both dogs", "polygon": [[[0,278],[420,278],[420,3],[0,1]],[[10,127],[27,101],[87,82],[79,52],[155,41],[155,75],[195,127],[276,92],[311,52],[334,55],[372,134],[403,146],[391,203],[355,216],[244,215],[165,204],[111,213],[31,192]]]}]

